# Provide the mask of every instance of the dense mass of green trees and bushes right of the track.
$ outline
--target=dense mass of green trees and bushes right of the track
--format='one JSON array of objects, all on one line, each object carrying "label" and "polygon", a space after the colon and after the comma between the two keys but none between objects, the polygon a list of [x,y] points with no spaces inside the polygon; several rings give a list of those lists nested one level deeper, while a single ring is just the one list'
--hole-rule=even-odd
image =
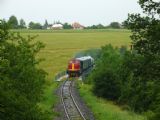
[{"label": "dense mass of green trees and bushes right of the track", "polygon": [[146,16],[130,14],[125,26],[132,31],[132,49],[102,47],[101,59],[88,78],[100,97],[160,118],[160,3],[139,0]]}]

